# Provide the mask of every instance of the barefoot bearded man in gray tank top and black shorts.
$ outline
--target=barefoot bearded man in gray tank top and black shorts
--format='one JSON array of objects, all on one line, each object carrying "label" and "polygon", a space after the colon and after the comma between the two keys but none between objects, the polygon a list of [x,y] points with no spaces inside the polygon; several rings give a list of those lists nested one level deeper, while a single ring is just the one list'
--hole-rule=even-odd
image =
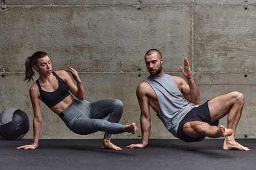
[{"label": "barefoot bearded man in gray tank top and black shorts", "polygon": [[[127,147],[147,146],[151,128],[151,106],[167,130],[183,141],[194,142],[201,141],[206,136],[223,136],[223,150],[250,150],[235,141],[236,126],[244,104],[243,94],[233,91],[198,105],[199,90],[187,58],[184,59],[184,68],[180,67],[187,82],[180,77],[164,73],[160,51],[151,49],[146,52],[144,58],[150,76],[137,87],[142,139],[141,143]],[[227,114],[227,128],[223,125],[217,127],[218,120]]]}]

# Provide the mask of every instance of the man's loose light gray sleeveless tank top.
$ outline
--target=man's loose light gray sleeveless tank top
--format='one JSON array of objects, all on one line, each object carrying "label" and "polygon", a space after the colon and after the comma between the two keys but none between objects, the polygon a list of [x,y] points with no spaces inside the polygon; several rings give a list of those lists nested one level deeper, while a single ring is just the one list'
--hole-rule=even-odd
[{"label": "man's loose light gray sleeveless tank top", "polygon": [[172,76],[168,74],[157,78],[147,77],[145,81],[151,85],[157,95],[160,109],[158,118],[161,119],[168,131],[178,137],[179,122],[192,108],[199,105],[187,102]]}]

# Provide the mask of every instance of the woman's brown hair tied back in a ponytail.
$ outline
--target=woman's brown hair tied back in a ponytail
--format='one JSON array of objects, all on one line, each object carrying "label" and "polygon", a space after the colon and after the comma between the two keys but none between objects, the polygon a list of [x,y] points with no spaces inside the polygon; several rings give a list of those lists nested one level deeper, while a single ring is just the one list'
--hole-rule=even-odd
[{"label": "woman's brown hair tied back in a ponytail", "polygon": [[46,52],[37,51],[32,56],[28,57],[25,62],[26,66],[26,75],[24,80],[33,81],[33,76],[35,75],[35,71],[33,70],[33,66],[37,65],[38,59],[45,57],[47,55]]}]

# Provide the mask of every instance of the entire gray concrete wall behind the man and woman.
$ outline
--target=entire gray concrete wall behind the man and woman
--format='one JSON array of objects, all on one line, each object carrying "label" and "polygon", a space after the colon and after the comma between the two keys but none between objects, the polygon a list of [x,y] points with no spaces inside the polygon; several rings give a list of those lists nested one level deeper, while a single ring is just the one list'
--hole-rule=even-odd
[{"label": "entire gray concrete wall behind the man and woman", "polygon": [[[30,119],[24,61],[46,51],[53,69],[79,71],[87,101],[118,98],[122,124],[139,125],[136,87],[147,76],[143,55],[159,49],[164,71],[182,76],[188,57],[202,103],[233,90],[245,96],[237,138],[256,137],[256,0],[1,0],[0,111],[16,107]],[[36,79],[36,78],[35,78]],[[41,102],[40,138],[79,136]],[[220,123],[226,125],[226,117]],[[139,126],[140,128],[140,126]],[[140,138],[120,134],[115,138]],[[174,138],[152,111],[151,138]]]}]

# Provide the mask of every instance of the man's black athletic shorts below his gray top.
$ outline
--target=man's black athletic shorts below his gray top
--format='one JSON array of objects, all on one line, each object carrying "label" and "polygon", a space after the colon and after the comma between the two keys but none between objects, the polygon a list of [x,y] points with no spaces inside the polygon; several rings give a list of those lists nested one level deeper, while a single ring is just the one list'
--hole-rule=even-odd
[{"label": "man's black athletic shorts below his gray top", "polygon": [[202,105],[199,105],[198,107],[191,109],[187,113],[187,115],[180,121],[178,126],[178,131],[177,131],[177,136],[185,142],[195,142],[195,141],[203,140],[206,136],[199,136],[194,138],[194,137],[186,136],[183,133],[182,127],[186,122],[189,122],[189,121],[203,121],[203,122],[209,123],[212,126],[213,125],[218,126],[218,120],[216,122],[212,122],[210,111],[208,108],[208,101]]}]

